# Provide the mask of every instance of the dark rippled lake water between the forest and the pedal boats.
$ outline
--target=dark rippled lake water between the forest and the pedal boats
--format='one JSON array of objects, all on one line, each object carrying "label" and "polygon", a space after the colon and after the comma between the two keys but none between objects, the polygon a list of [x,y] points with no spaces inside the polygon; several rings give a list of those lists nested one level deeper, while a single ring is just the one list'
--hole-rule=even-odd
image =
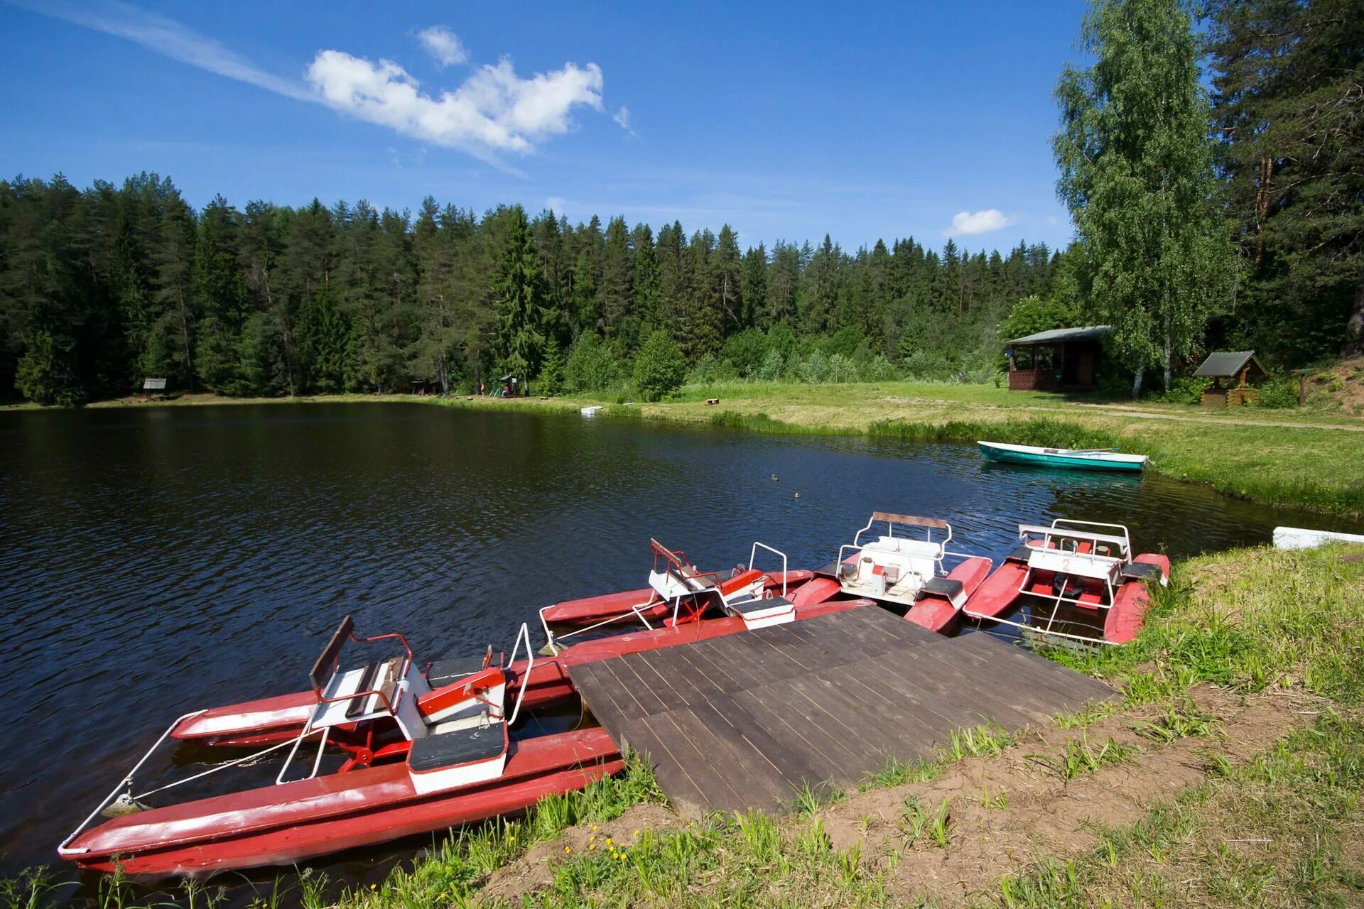
[{"label": "dark rippled lake water between the forest and the pedal boats", "polygon": [[0,874],[55,861],[176,715],[304,688],[346,612],[423,657],[510,649],[542,605],[644,586],[651,536],[704,568],[753,540],[816,567],[877,508],[992,556],[1053,517],[1172,556],[1312,522],[964,446],[420,405],[0,414]]}]

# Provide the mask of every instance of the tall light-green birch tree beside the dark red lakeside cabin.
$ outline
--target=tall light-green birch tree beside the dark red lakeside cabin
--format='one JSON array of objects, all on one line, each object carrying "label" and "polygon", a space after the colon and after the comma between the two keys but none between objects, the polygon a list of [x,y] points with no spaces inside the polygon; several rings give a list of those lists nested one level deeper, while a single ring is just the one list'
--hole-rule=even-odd
[{"label": "tall light-green birch tree beside the dark red lakeside cabin", "polygon": [[1230,275],[1196,41],[1178,0],[1091,0],[1082,45],[1095,64],[1067,65],[1056,89],[1058,194],[1133,397],[1155,363],[1169,390]]}]

